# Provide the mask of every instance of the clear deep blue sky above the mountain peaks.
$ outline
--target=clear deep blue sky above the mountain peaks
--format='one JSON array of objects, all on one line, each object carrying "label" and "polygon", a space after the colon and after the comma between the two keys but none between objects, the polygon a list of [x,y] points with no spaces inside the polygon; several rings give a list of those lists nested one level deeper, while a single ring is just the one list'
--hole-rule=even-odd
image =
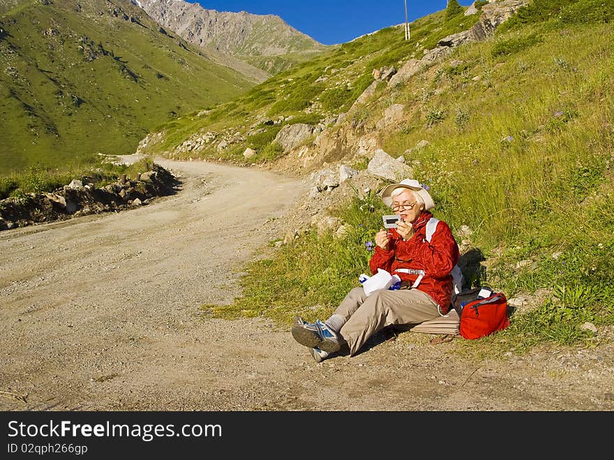
[{"label": "clear deep blue sky above the mountain peaks", "polygon": [[[194,3],[195,0],[186,0]],[[324,45],[405,22],[404,0],[200,0],[208,10],[278,15],[287,24]],[[469,6],[473,0],[459,0]],[[407,0],[409,22],[446,8],[447,0]]]}]

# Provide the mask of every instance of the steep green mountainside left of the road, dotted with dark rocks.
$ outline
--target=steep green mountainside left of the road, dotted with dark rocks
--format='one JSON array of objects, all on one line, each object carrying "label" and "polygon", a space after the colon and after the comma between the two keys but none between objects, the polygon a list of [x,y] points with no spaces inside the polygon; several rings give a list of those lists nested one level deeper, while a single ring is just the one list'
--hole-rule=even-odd
[{"label": "steep green mountainside left of the road, dotted with dark rocks", "polygon": [[0,174],[131,154],[156,125],[253,82],[127,1],[27,1],[0,16]]}]

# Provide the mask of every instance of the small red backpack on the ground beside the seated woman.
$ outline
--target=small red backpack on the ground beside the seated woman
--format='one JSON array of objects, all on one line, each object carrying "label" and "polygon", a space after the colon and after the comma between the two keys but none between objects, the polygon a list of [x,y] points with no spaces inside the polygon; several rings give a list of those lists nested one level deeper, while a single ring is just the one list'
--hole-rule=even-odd
[{"label": "small red backpack on the ground beside the seated woman", "polygon": [[[459,332],[465,339],[479,339],[509,326],[507,298],[502,292],[481,288],[458,297],[454,308],[461,317]],[[461,303],[462,298],[469,300]]]}]

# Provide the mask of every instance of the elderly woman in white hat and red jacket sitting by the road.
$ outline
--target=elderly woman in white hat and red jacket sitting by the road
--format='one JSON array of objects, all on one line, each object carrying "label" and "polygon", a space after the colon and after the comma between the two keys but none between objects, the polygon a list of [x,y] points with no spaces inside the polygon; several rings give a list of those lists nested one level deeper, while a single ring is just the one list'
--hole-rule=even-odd
[{"label": "elderly woman in white hat and red jacket sitting by the road", "polygon": [[366,295],[352,289],[331,317],[310,323],[294,318],[292,336],[308,348],[316,362],[340,349],[358,353],[370,336],[389,325],[412,325],[447,313],[453,293],[451,272],[458,245],[449,226],[430,213],[435,207],[418,181],[405,179],[382,191],[382,201],[399,216],[397,228],[375,235],[369,261],[373,274],[384,269],[402,280],[399,290],[380,289]]}]

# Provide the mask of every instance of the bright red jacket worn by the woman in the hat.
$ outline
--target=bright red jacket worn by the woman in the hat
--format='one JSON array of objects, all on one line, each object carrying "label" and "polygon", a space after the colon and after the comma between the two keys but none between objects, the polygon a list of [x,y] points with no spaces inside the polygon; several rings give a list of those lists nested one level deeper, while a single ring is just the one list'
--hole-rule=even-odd
[{"label": "bright red jacket worn by the woman in the hat", "polygon": [[392,228],[389,237],[389,250],[384,251],[379,246],[369,261],[373,274],[381,268],[390,274],[397,274],[403,281],[414,283],[418,274],[395,272],[396,269],[424,270],[417,289],[430,295],[441,312],[447,313],[450,309],[453,292],[451,271],[458,262],[458,244],[452,235],[447,223],[440,221],[430,238],[426,241],[426,223],[433,217],[428,211],[423,211],[414,223],[414,235],[407,241]]}]

